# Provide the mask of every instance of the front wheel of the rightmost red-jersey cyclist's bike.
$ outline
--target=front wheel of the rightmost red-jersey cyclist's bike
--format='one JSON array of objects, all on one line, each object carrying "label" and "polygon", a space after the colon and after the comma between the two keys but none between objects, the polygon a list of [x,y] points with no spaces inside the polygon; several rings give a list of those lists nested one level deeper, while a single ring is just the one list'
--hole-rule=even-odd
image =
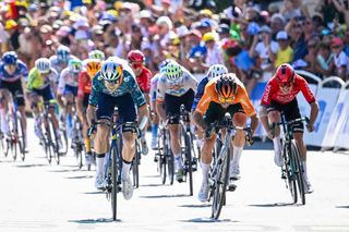
[{"label": "front wheel of the rightmost red-jersey cyclist's bike", "polygon": [[293,173],[294,160],[292,158],[290,146],[291,146],[290,144],[287,144],[287,145],[285,144],[284,146],[284,162],[285,162],[286,176],[287,176],[287,183],[288,183],[287,186],[290,191],[292,202],[293,204],[296,204],[298,200],[298,195],[297,195],[297,184],[296,184],[294,173]]}]

